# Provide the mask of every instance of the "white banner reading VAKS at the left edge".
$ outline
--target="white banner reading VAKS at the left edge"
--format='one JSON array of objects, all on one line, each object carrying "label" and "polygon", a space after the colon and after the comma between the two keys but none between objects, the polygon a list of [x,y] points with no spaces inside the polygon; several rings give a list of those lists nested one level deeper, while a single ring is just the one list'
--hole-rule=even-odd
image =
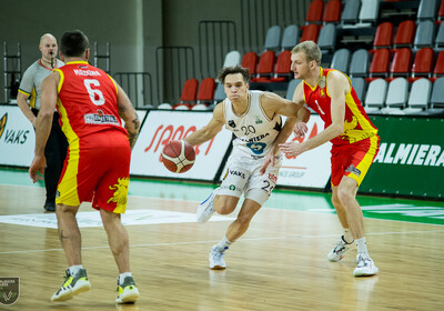
[{"label": "white banner reading VAKS at the left edge", "polygon": [[29,167],[34,144],[34,129],[20,108],[0,106],[0,164]]}]

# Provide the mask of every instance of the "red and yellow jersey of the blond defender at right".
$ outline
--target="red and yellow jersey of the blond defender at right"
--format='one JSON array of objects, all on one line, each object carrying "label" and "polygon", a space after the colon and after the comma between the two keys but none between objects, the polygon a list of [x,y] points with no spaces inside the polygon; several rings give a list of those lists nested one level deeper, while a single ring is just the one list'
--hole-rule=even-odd
[{"label": "red and yellow jersey of the blond defender at right", "polygon": [[[329,94],[326,79],[329,73],[333,70],[334,69],[321,68],[321,79],[314,88],[303,81],[305,102],[310,108],[320,114],[321,119],[325,123],[324,128],[327,128],[332,123],[332,99]],[[350,82],[350,92],[345,96],[344,132],[331,140],[331,142],[335,146],[353,143],[377,134],[377,129],[375,126],[373,126],[365,113],[365,110],[362,107],[355,90],[353,89],[350,78],[347,76],[345,77]]]}]

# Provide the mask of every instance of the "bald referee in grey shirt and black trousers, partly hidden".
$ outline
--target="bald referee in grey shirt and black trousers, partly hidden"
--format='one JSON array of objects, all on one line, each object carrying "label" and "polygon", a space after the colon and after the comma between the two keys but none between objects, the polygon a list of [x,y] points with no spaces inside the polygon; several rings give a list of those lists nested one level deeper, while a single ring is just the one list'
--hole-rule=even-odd
[{"label": "bald referee in grey shirt and black trousers, partly hidden", "polygon": [[[64,63],[57,59],[58,46],[57,39],[50,33],[46,33],[40,38],[39,50],[41,58],[32,63],[20,83],[17,103],[24,117],[36,128],[36,117],[40,109],[40,87],[44,78],[51,74],[52,70],[62,67]],[[56,191],[63,161],[67,157],[68,142],[64,133],[59,124],[59,113],[54,111],[51,133],[44,149],[44,158],[47,167],[44,169],[44,187],[47,189],[47,200],[44,210],[49,212],[56,211]]]}]

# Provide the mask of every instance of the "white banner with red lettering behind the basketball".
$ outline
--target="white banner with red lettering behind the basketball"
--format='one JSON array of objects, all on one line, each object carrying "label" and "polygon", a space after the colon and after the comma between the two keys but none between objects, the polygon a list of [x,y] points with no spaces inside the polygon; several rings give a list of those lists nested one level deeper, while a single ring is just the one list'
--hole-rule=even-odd
[{"label": "white banner with red lettering behind the basketball", "polygon": [[195,162],[184,173],[167,170],[161,161],[162,149],[170,140],[180,140],[208,124],[213,112],[150,111],[131,158],[131,174],[212,181],[231,143],[231,132],[222,129],[212,140],[194,148]]}]

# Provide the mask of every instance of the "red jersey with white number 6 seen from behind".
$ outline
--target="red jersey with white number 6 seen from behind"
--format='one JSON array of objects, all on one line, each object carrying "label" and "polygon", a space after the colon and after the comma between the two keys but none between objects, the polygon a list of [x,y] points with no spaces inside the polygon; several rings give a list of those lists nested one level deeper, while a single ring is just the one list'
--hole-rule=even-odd
[{"label": "red jersey with white number 6 seen from behind", "polygon": [[128,136],[118,112],[118,89],[107,72],[85,61],[69,62],[54,71],[60,73],[57,109],[70,144],[101,131]]}]

